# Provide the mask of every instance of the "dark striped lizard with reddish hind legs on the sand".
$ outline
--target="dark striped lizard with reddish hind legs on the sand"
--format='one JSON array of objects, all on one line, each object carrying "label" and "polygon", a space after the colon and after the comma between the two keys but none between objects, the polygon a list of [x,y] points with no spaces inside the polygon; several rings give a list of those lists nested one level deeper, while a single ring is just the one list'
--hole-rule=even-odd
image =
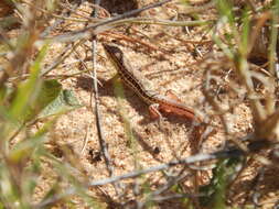
[{"label": "dark striped lizard with reddish hind legs on the sand", "polygon": [[152,89],[151,82],[140,72],[133,69],[126,59],[122,51],[115,45],[103,44],[107,57],[114,64],[121,80],[133,90],[147,105],[152,118],[161,118],[161,113],[171,113],[184,117],[187,120],[201,123],[202,120],[194,111],[178,99],[159,95]]}]

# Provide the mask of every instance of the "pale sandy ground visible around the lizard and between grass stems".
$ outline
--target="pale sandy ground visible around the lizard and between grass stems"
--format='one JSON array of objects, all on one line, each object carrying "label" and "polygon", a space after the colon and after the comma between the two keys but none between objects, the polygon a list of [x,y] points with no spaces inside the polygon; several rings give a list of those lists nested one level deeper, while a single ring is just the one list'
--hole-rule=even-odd
[{"label": "pale sandy ground visible around the lizard and between grass stems", "polygon": [[[141,8],[142,6],[153,2],[152,0],[139,1],[103,1],[103,6],[110,13],[120,13],[127,10]],[[92,9],[88,3],[83,3],[77,12],[88,15]],[[211,19],[215,15],[213,9],[201,12],[201,19]],[[75,16],[75,14],[73,14]],[[140,16],[150,16],[165,20],[191,20],[185,14],[184,6],[178,3],[168,3],[160,8],[144,11]],[[82,29],[84,24],[66,21],[61,29],[54,33],[60,33],[60,30],[65,28],[69,31]],[[117,35],[116,35],[117,34]],[[119,35],[121,34],[121,35]],[[127,40],[126,37],[132,38]],[[204,102],[204,96],[201,87],[204,82],[204,68],[196,63],[202,59],[202,56],[214,50],[211,41],[211,34],[203,26],[191,28],[171,28],[162,25],[140,25],[133,24],[130,26],[121,26],[98,35],[97,44],[97,72],[100,99],[101,129],[105,133],[105,140],[108,144],[109,155],[112,160],[115,168],[114,175],[122,175],[135,170],[137,167],[147,168],[155,166],[169,161],[186,157],[191,155],[191,122],[183,118],[173,116],[165,117],[162,127],[160,128],[157,121],[152,121],[149,116],[148,106],[138,98],[135,92],[125,87],[125,96],[120,102],[114,94],[114,85],[111,78],[116,75],[115,68],[107,59],[101,42],[115,43],[125,52],[131,65],[139,69],[154,85],[160,94],[164,95],[171,89],[183,101],[184,105],[194,109],[196,114],[201,116],[210,124],[214,125],[215,133],[208,136],[201,145],[200,152],[213,152],[226,141],[224,130],[217,117],[212,116],[212,108]],[[150,50],[142,43],[148,43],[153,46]],[[51,46],[46,57],[46,63],[52,62],[62,53],[66,46],[64,43],[55,43]],[[76,51],[66,61],[57,67],[52,75],[71,75],[81,70],[92,69],[92,53],[90,42],[78,46]],[[200,53],[200,54],[198,54]],[[86,68],[85,68],[86,66]],[[221,77],[223,75],[219,75]],[[223,79],[223,78],[222,78]],[[89,180],[96,180],[109,177],[104,157],[100,155],[96,129],[96,116],[93,113],[94,102],[92,106],[93,79],[89,74],[84,73],[62,80],[63,87],[74,90],[76,97],[84,105],[83,108],[72,111],[57,121],[55,130],[50,134],[51,142],[49,146],[53,150],[58,158],[60,150],[63,146],[71,147],[75,156],[75,163],[81,168],[82,173],[88,176]],[[224,103],[224,107],[227,103]],[[133,140],[129,139],[125,132],[124,119],[119,111],[126,112],[126,118],[130,121],[130,127],[133,130]],[[237,138],[246,135],[251,129],[251,116],[249,107],[246,103],[239,103],[233,112],[227,113],[227,121],[232,134]],[[63,158],[63,157],[62,157]],[[236,183],[233,193],[236,202],[242,202],[244,193],[249,186],[249,180],[255,176],[256,165],[247,170],[247,175]],[[171,170],[175,172],[180,167],[174,167]],[[42,185],[37,188],[37,197],[40,197],[55,176],[52,173],[52,166],[45,168],[45,175],[41,177]],[[81,172],[79,170],[79,172]],[[275,170],[273,170],[275,172]],[[271,175],[273,174],[270,170]],[[53,174],[53,175],[52,175]],[[78,176],[79,174],[77,174]],[[207,172],[211,175],[211,172]],[[270,178],[271,178],[270,175]],[[161,173],[154,173],[144,176],[151,188],[158,188],[164,178]],[[139,182],[142,179],[139,179]],[[208,178],[204,177],[202,182],[205,184]],[[269,177],[266,179],[265,196],[278,197],[278,182]],[[185,187],[191,187],[192,178],[185,180]],[[120,199],[129,201],[135,198],[131,193],[133,186],[132,180],[125,180],[127,195]],[[112,186],[93,188],[93,196],[100,198],[100,194],[107,194],[111,198],[116,197]],[[73,199],[78,208],[86,208],[77,198]],[[265,200],[262,200],[265,201]],[[81,204],[81,205],[79,205]],[[267,205],[268,206],[268,205]],[[60,206],[57,206],[60,207]],[[181,204],[164,202],[159,205],[159,208],[180,208]]]}]

